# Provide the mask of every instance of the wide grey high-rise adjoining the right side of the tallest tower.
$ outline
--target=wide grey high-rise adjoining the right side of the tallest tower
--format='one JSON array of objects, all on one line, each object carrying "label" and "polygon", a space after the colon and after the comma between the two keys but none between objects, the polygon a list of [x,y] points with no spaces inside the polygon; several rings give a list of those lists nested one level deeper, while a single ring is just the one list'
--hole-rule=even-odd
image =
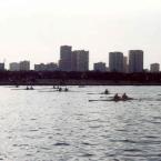
[{"label": "wide grey high-rise adjoining the right side of the tallest tower", "polygon": [[74,50],[72,52],[72,71],[89,70],[89,51]]}]

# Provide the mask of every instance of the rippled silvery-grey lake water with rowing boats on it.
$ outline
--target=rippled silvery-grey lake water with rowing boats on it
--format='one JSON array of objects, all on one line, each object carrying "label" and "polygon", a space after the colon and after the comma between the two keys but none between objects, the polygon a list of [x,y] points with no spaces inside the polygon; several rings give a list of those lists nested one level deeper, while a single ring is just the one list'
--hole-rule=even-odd
[{"label": "rippled silvery-grey lake water with rowing boats on it", "polygon": [[24,88],[0,87],[0,160],[161,160],[161,87]]}]

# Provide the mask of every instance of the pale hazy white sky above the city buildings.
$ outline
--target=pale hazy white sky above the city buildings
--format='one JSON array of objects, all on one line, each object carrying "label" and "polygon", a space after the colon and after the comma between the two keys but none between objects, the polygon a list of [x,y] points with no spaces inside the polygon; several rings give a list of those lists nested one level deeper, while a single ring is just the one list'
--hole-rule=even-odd
[{"label": "pale hazy white sky above the city buildings", "polygon": [[161,63],[161,0],[0,0],[0,61],[57,62],[61,44],[89,50],[90,67],[130,49]]}]

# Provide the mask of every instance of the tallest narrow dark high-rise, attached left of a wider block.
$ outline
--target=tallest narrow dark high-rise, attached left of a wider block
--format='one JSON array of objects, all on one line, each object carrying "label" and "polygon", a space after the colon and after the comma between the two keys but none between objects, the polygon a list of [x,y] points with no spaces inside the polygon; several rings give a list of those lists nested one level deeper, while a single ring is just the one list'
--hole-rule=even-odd
[{"label": "tallest narrow dark high-rise, attached left of a wider block", "polygon": [[59,68],[61,71],[71,71],[71,54],[72,47],[61,46],[60,47],[60,61]]}]

